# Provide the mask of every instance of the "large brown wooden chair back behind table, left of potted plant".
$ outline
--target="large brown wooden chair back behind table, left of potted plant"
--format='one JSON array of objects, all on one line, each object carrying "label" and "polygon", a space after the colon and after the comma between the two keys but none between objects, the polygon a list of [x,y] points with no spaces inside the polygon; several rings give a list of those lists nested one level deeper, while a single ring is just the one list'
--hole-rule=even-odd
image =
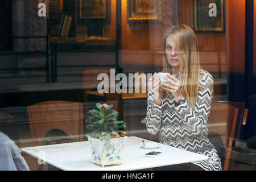
[{"label": "large brown wooden chair back behind table, left of potted plant", "polygon": [[46,101],[27,107],[31,136],[34,145],[44,144],[49,131],[59,129],[71,139],[83,140],[82,103],[70,101]]}]

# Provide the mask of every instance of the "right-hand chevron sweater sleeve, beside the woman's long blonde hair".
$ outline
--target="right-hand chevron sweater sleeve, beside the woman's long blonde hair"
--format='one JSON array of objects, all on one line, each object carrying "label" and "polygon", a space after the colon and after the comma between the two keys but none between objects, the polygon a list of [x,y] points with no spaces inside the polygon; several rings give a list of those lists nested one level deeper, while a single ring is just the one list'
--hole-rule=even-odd
[{"label": "right-hand chevron sweater sleeve, beside the woman's long blonde hair", "polygon": [[203,72],[200,75],[199,96],[197,97],[195,110],[191,108],[187,100],[184,104],[175,106],[182,122],[193,134],[202,134],[207,126],[212,103],[213,78],[210,73]]}]

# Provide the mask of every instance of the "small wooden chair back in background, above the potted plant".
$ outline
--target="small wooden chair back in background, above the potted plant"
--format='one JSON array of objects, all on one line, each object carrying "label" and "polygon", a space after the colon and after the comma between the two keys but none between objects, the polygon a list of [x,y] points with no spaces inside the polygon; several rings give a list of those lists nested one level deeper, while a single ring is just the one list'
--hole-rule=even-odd
[{"label": "small wooden chair back in background, above the potted plant", "polygon": [[[110,81],[110,69],[88,69],[82,72],[82,78],[84,82],[84,101],[88,102],[87,91],[97,90],[98,84],[101,80],[97,80],[97,77],[100,73],[106,73],[109,76]],[[110,86],[110,82],[109,82]]]}]

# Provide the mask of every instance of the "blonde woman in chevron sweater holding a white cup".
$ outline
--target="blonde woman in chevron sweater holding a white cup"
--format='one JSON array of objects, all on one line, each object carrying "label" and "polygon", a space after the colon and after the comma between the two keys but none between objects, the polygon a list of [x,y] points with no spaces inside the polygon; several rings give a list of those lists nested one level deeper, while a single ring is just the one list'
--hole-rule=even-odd
[{"label": "blonde woman in chevron sweater holding a white cup", "polygon": [[148,83],[146,126],[159,133],[159,141],[173,147],[209,156],[189,167],[221,170],[216,148],[210,143],[207,119],[213,93],[213,77],[200,68],[195,33],[184,24],[171,27],[164,36],[163,72]]}]

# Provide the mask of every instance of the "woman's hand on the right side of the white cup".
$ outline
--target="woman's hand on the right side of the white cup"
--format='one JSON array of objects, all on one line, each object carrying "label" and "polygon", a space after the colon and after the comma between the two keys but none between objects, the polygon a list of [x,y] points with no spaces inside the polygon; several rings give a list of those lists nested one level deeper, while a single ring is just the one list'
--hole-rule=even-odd
[{"label": "woman's hand on the right side of the white cup", "polygon": [[171,92],[176,102],[185,99],[180,91],[181,90],[180,81],[175,76],[168,74],[167,77],[164,77],[164,80],[167,80],[168,82],[161,82],[162,88],[164,90]]}]

